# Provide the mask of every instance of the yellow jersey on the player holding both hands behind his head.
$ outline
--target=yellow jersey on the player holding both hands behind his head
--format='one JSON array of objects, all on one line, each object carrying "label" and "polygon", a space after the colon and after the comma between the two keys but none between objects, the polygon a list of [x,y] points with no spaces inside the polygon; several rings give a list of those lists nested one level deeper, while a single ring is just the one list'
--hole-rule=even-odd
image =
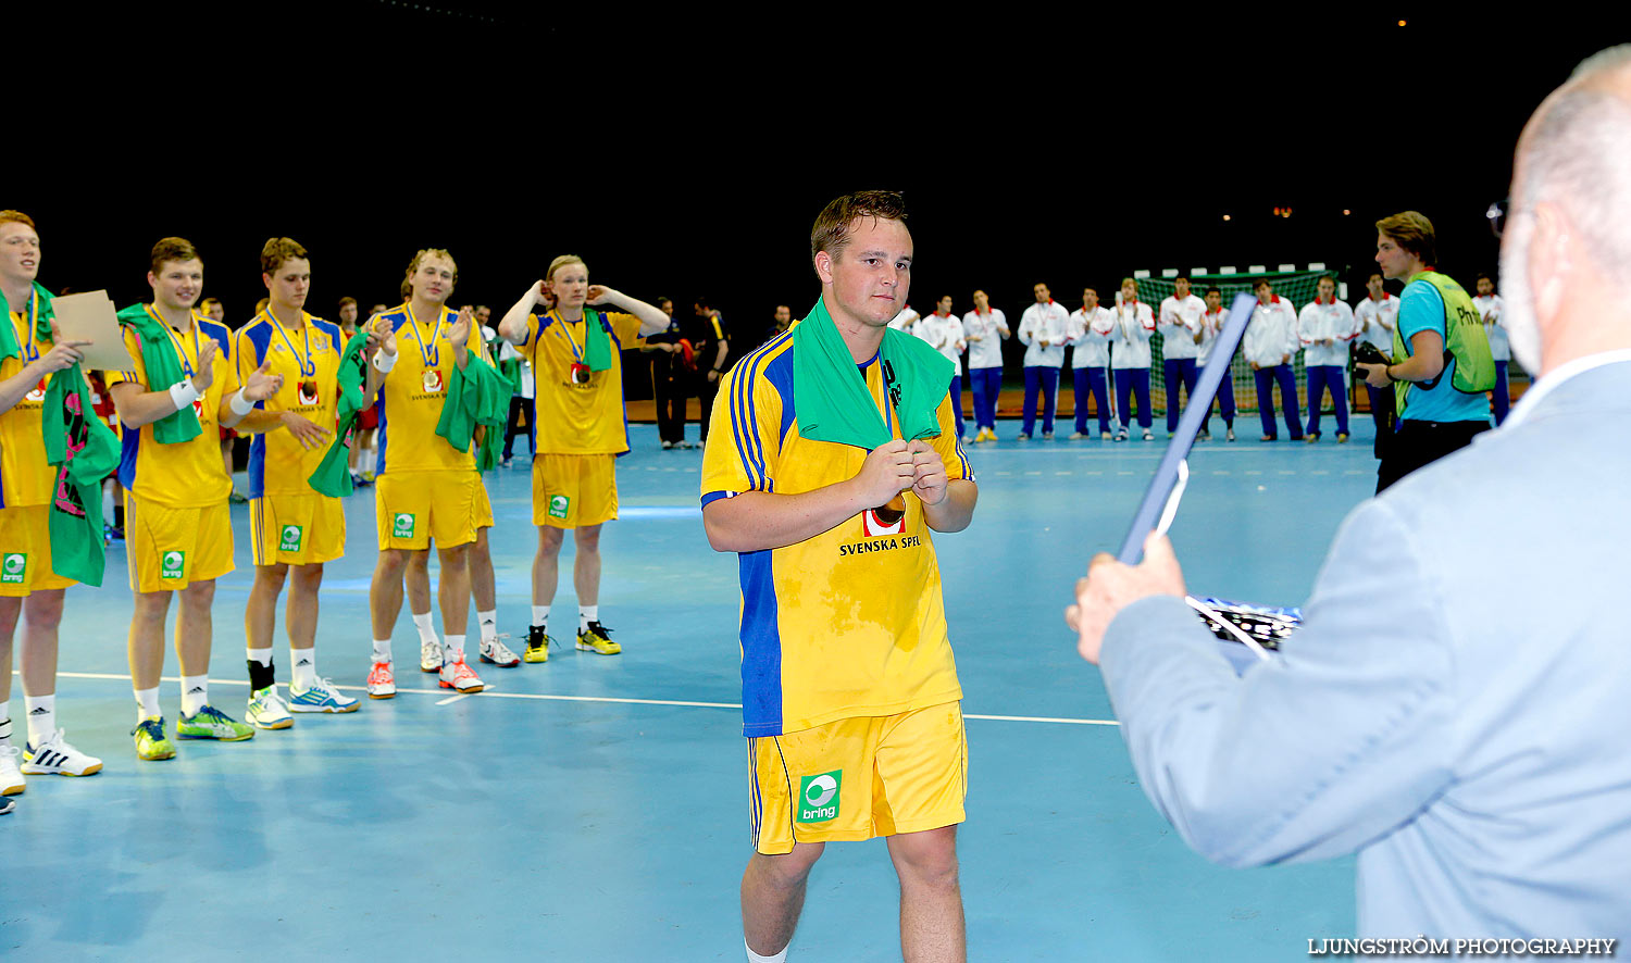
[{"label": "yellow jersey on the player holding both hands behind his head", "polygon": [[[587,311],[586,311],[587,316]],[[612,367],[572,383],[572,365],[584,357],[584,321],[564,321],[550,311],[527,316],[527,341],[519,350],[532,363],[537,391],[540,455],[621,455],[628,451],[623,416],[623,352],[639,341],[639,318],[602,313],[612,331]]]}]

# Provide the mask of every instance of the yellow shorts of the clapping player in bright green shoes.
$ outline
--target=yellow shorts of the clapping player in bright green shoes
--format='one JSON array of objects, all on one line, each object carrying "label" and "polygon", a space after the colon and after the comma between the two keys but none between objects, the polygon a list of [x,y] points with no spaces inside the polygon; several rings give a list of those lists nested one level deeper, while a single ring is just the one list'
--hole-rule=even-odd
[{"label": "yellow shorts of the clapping player in bright green shoes", "polygon": [[166,508],[124,497],[124,552],[135,591],[173,591],[232,572],[232,513],[227,502],[209,508]]}]

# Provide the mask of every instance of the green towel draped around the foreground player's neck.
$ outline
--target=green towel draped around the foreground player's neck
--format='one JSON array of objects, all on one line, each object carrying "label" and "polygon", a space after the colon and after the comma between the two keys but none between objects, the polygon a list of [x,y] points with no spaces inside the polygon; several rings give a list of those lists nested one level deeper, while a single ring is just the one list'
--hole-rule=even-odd
[{"label": "green towel draped around the foreground player's neck", "polygon": [[[877,362],[884,365],[900,437],[913,442],[939,435],[936,412],[951,389],[956,365],[922,339],[894,329],[884,331]],[[866,376],[822,301],[793,328],[793,407],[806,438],[868,451],[892,438]]]}]

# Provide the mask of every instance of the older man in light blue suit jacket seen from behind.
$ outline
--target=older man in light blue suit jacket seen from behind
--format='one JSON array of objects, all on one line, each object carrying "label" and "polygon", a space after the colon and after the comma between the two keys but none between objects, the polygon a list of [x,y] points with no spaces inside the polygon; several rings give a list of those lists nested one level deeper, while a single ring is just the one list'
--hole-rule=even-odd
[{"label": "older man in light blue suit jacket seen from behind", "polygon": [[1096,557],[1067,611],[1184,839],[1359,852],[1362,937],[1631,937],[1628,155],[1621,46],[1518,142],[1501,280],[1540,380],[1349,515],[1272,662],[1236,678],[1165,538]]}]

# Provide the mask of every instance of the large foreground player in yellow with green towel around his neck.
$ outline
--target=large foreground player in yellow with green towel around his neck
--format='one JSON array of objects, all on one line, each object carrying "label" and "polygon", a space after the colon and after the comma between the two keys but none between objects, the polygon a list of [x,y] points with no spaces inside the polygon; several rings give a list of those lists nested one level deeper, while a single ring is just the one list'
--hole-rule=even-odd
[{"label": "large foreground player in yellow with green towel around his neck", "polygon": [[962,960],[962,689],[931,531],[977,489],[951,362],[889,321],[907,303],[900,194],[840,197],[811,231],[822,295],[726,375],[703,525],[742,562],[742,715],[755,854],[749,960],[785,960],[822,847],[886,836],[905,960]]}]

